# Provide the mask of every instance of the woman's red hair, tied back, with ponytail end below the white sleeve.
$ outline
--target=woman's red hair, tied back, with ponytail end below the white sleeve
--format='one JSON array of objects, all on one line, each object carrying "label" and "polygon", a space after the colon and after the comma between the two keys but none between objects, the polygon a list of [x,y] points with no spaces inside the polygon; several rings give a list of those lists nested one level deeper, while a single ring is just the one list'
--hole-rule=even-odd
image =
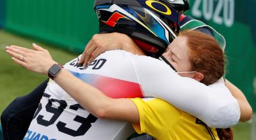
[{"label": "woman's red hair, tied back, with ponytail end below the white sleeve", "polygon": [[[225,56],[217,41],[199,31],[184,31],[180,36],[188,38],[191,71],[204,74],[204,79],[200,82],[211,85],[218,81],[225,73]],[[233,139],[230,128],[216,129],[216,131],[220,140]]]}]

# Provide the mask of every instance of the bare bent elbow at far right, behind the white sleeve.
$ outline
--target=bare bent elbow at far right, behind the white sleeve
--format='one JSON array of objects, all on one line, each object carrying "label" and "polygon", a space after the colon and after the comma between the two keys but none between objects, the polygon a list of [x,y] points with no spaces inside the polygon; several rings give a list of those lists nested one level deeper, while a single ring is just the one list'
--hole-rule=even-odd
[{"label": "bare bent elbow at far right, behind the white sleeve", "polygon": [[249,102],[247,101],[246,97],[244,96],[243,92],[239,90],[235,85],[230,83],[227,79],[225,80],[226,86],[228,90],[230,90],[231,94],[237,99],[241,110],[240,121],[245,122],[252,118],[252,107],[250,106]]}]

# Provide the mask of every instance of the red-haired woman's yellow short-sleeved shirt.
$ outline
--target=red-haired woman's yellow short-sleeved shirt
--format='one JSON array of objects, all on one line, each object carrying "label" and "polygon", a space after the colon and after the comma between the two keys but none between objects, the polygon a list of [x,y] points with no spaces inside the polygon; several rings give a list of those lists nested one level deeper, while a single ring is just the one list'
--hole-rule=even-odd
[{"label": "red-haired woman's yellow short-sleeved shirt", "polygon": [[[140,114],[140,124],[133,127],[138,134],[147,133],[156,139],[207,139],[211,135],[205,125],[196,123],[196,117],[175,108],[168,102],[156,98],[131,99]],[[219,139],[216,129],[211,129]]]}]

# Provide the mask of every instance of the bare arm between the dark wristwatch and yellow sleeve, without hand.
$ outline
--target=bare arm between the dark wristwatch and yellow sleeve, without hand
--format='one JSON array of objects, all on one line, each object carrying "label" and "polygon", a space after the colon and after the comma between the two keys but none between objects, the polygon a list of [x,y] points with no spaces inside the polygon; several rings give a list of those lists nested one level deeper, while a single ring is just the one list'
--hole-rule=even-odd
[{"label": "bare arm between the dark wristwatch and yellow sleeve, without hand", "polygon": [[[47,73],[47,71],[45,72]],[[65,69],[61,70],[54,81],[97,118],[122,120],[131,123],[139,122],[138,109],[130,99],[111,99]],[[70,85],[70,83],[76,84]]]}]

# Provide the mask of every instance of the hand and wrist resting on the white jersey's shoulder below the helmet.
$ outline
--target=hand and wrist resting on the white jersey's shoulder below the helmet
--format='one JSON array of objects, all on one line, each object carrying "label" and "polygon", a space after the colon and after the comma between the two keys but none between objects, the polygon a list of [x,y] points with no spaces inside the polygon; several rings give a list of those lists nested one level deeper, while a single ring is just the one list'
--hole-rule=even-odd
[{"label": "hand and wrist resting on the white jersey's shoulder below the helmet", "polygon": [[84,66],[90,64],[100,53],[108,50],[126,50],[138,55],[144,55],[140,48],[132,41],[129,36],[118,32],[95,34],[83,52],[79,64]]}]

